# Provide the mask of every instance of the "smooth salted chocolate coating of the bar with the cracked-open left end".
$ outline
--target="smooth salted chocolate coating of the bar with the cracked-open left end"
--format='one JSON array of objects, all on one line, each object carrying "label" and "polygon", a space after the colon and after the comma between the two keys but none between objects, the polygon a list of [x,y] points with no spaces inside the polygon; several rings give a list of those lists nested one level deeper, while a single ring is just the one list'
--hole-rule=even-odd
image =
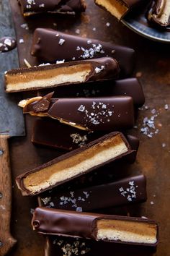
[{"label": "smooth salted chocolate coating of the bar with the cracked-open left end", "polygon": [[60,98],[49,108],[48,115],[91,131],[128,129],[134,124],[133,99],[129,96]]}]

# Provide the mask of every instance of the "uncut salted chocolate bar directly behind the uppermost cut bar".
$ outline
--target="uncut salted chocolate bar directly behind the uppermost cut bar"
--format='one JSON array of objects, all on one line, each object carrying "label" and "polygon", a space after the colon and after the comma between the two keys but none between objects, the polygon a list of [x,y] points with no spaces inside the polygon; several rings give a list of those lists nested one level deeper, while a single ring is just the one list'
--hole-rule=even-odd
[{"label": "uncut salted chocolate bar directly behind the uppermost cut bar", "polygon": [[117,46],[114,43],[102,42],[101,40],[68,35],[46,28],[35,30],[31,54],[40,61],[50,63],[63,59],[73,61],[110,56],[118,61],[121,77],[130,75],[135,65],[135,51],[132,48]]}]

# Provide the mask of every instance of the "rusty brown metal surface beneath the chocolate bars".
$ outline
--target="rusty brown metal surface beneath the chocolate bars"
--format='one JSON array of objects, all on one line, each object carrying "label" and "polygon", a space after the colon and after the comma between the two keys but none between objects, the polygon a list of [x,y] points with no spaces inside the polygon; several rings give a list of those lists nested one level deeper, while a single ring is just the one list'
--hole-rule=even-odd
[{"label": "rusty brown metal surface beneath the chocolate bars", "polygon": [[[146,174],[148,183],[148,201],[142,205],[131,205],[124,208],[117,208],[113,213],[130,214],[130,216],[146,216],[158,221],[160,226],[160,242],[157,252],[153,255],[170,255],[169,247],[169,166],[170,166],[170,52],[169,46],[155,43],[145,38],[141,38],[121,23],[93,4],[87,1],[86,14],[73,18],[55,18],[39,20],[40,27],[49,27],[50,22],[57,23],[58,30],[76,34],[79,28],[80,34],[89,38],[99,38],[111,40],[125,46],[135,48],[137,51],[137,61],[134,75],[137,75],[142,82],[146,95],[146,104],[139,111],[135,129],[131,132],[140,138],[140,148],[136,162],[131,166],[125,166],[122,170],[117,170],[120,176],[129,174]],[[1,4],[1,1],[0,1]],[[35,28],[34,22],[30,25],[30,30],[20,27],[25,21],[17,13],[17,1],[11,0],[15,22],[17,25],[17,39],[23,38],[24,43],[18,44],[19,60],[21,66],[24,65],[23,59],[27,59],[31,64],[35,63],[30,59],[30,35]],[[110,26],[107,27],[106,23]],[[46,24],[46,25],[45,25]],[[53,24],[53,23],[52,23]],[[94,27],[96,30],[94,30]],[[56,28],[56,26],[53,26]],[[30,32],[29,32],[30,31]],[[167,106],[169,109],[167,108]],[[149,138],[140,132],[143,127],[143,119],[153,116],[155,129],[153,137]],[[145,119],[146,120],[146,119]],[[44,163],[55,156],[63,153],[58,150],[35,147],[30,142],[32,130],[32,117],[27,116],[27,137],[15,138],[11,140],[12,175],[14,178],[40,163]],[[150,121],[151,122],[151,121]],[[148,133],[149,133],[148,132]],[[35,234],[30,226],[32,215],[30,210],[37,205],[35,197],[26,198],[20,195],[14,183],[13,189],[13,210],[12,210],[12,234],[17,238],[17,246],[12,249],[11,256],[42,256],[44,239]],[[119,256],[119,253],[115,254]],[[143,255],[138,252],[138,255]],[[120,255],[123,256],[123,255]],[[143,255],[144,256],[144,255]],[[145,254],[146,256],[146,254]]]}]

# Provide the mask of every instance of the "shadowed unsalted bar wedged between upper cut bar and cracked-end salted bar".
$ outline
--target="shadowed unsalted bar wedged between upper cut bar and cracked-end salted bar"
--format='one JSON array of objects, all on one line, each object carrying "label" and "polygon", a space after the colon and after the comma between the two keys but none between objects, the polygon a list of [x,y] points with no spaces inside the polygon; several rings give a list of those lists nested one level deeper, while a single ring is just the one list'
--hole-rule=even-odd
[{"label": "shadowed unsalted bar wedged between upper cut bar and cracked-end salted bar", "polygon": [[[50,91],[49,89],[49,92]],[[130,96],[133,98],[135,108],[143,106],[145,103],[142,85],[136,78],[93,82],[86,84],[85,88],[79,85],[63,85],[62,87],[55,88],[53,98],[63,98],[63,95],[64,98],[107,97],[116,95]]]}]

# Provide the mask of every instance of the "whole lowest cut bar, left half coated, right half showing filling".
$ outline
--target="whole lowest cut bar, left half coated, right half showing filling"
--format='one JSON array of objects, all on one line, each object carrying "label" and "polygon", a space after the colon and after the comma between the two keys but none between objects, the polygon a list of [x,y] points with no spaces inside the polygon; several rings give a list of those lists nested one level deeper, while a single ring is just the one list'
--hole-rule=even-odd
[{"label": "whole lowest cut bar, left half coated, right half showing filling", "polygon": [[41,234],[156,246],[158,225],[145,218],[36,208],[32,228]]}]

